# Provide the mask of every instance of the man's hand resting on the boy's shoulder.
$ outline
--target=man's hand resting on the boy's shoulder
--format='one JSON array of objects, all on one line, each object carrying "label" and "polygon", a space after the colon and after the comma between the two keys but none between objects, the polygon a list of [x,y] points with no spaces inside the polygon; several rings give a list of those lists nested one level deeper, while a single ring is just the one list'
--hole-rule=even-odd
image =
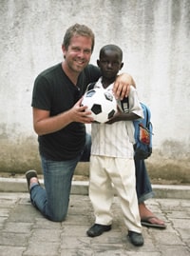
[{"label": "man's hand resting on the boy's shoulder", "polygon": [[136,87],[135,81],[131,75],[127,73],[118,75],[113,88],[113,93],[116,99],[120,98],[123,100],[124,97],[127,97],[129,94],[130,86]]}]

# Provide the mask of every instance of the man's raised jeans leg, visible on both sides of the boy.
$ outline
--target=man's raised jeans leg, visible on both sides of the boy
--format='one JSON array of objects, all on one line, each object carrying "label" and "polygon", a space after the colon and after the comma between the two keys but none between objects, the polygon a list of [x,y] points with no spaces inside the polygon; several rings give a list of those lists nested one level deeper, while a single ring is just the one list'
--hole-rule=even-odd
[{"label": "man's raised jeans leg, visible on both sides of the boy", "polygon": [[[91,148],[91,136],[86,134],[86,144],[85,150],[82,155],[80,162],[89,162],[90,157],[90,148]],[[135,161],[135,170],[136,170],[136,190],[138,202],[142,203],[145,200],[152,198],[154,192],[150,183],[150,179],[145,167],[144,160],[134,160]]]}]

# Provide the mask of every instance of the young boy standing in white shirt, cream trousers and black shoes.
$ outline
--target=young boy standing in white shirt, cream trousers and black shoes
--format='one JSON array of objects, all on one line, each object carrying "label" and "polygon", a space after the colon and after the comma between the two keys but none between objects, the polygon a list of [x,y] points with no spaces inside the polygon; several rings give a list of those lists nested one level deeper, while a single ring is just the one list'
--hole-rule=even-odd
[{"label": "young boy standing in white shirt, cream trousers and black shoes", "polygon": [[[97,60],[103,76],[94,88],[112,91],[118,71],[123,68],[122,61],[122,49],[115,45],[104,46]],[[143,113],[133,87],[130,87],[128,102],[129,109],[126,109],[124,101],[118,101],[118,112],[105,124],[92,124],[89,198],[94,208],[95,224],[86,233],[95,237],[111,229],[113,184],[121,200],[128,237],[134,246],[142,246],[133,159],[134,127],[131,120],[142,118]]]}]

